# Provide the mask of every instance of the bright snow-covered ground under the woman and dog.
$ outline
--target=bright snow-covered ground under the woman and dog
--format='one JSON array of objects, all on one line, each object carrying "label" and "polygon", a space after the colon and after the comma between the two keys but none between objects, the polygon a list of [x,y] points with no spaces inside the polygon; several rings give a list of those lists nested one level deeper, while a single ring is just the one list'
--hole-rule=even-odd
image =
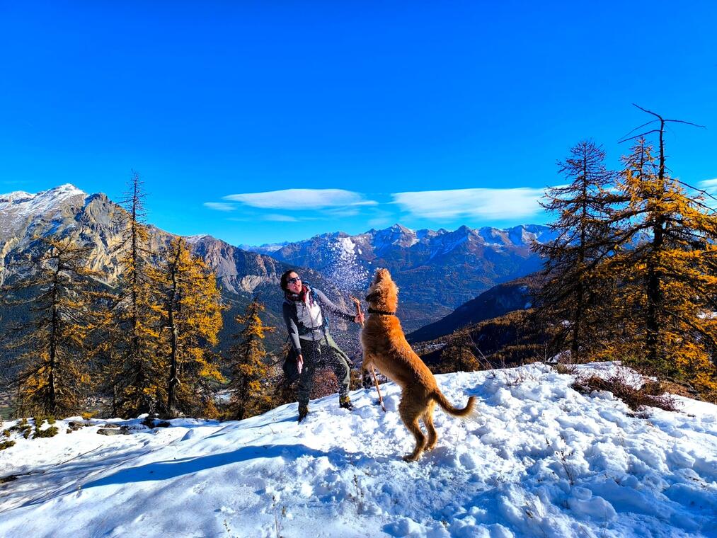
[{"label": "bright snow-covered ground under the woman and dog", "polygon": [[400,459],[412,438],[394,384],[385,414],[359,390],[353,412],[334,395],[302,424],[296,404],[114,437],[58,421],[0,451],[0,477],[20,475],[0,485],[0,536],[717,536],[716,406],[676,397],[680,412],[635,417],[542,364],[438,379],[479,413],[437,409],[417,463]]}]

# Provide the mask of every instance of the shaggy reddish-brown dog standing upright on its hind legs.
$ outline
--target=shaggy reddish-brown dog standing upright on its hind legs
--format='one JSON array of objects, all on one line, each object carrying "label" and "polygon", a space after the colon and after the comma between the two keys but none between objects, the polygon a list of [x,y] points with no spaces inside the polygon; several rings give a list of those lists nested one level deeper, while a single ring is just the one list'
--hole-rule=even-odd
[{"label": "shaggy reddish-brown dog standing upright on its hind legs", "polygon": [[[399,413],[406,428],[416,438],[416,448],[406,461],[417,460],[424,450],[431,450],[438,439],[433,426],[433,408],[436,403],[443,410],[456,417],[465,417],[473,411],[475,396],[468,398],[463,409],[450,405],[442,394],[436,378],[414,353],[406,341],[401,323],[396,317],[398,286],[391,280],[386,269],[377,269],[374,283],[369,288],[366,301],[369,303],[369,317],[361,331],[361,345],[364,348],[364,375],[371,366],[401,387]],[[418,420],[423,420],[428,439],[423,435]]]}]

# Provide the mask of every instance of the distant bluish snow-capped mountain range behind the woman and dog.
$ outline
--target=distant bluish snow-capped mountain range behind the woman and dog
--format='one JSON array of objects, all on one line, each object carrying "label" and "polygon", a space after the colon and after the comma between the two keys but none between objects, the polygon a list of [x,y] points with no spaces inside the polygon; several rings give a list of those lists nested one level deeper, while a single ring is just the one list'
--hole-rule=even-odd
[{"label": "distant bluish snow-capped mountain range behind the woman and dog", "polygon": [[391,271],[401,288],[399,312],[406,331],[449,315],[498,283],[533,273],[541,258],[531,244],[549,242],[547,226],[410,230],[393,225],[358,235],[333,232],[283,245],[247,247],[298,267],[313,268],[338,288],[361,293],[374,268]]}]

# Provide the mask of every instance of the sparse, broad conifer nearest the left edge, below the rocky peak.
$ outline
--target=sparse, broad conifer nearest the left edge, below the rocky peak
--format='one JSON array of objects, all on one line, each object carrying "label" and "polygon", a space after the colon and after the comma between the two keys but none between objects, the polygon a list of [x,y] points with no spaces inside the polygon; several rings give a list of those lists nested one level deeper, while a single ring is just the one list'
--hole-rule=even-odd
[{"label": "sparse, broad conifer nearest the left edge, below the rocky peak", "polygon": [[67,416],[82,409],[89,389],[88,337],[105,294],[87,268],[89,247],[55,237],[36,243],[39,254],[21,262],[27,272],[5,290],[6,301],[32,303],[31,321],[14,328],[12,346],[22,350],[16,413]]}]

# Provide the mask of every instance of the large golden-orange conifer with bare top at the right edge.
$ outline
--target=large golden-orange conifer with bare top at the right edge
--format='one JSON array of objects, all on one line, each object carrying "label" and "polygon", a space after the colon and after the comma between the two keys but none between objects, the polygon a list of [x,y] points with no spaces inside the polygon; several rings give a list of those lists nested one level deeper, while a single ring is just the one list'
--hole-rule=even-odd
[{"label": "large golden-orange conifer with bare top at the right edge", "polygon": [[670,177],[667,120],[656,116],[657,155],[638,136],[623,159],[619,189],[629,203],[614,220],[625,247],[605,264],[620,279],[614,311],[622,333],[608,351],[717,394],[717,217],[703,195]]}]

